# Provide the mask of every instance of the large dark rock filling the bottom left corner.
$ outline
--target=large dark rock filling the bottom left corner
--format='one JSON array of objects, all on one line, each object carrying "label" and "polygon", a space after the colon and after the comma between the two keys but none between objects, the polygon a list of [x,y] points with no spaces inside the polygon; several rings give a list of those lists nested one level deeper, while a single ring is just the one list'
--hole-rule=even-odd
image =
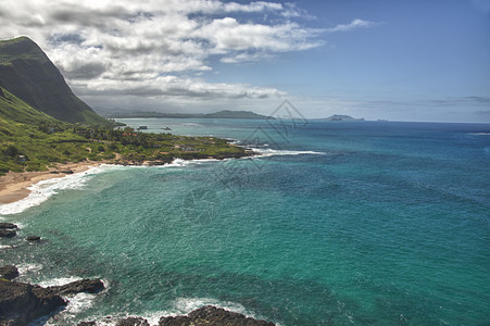
[{"label": "large dark rock filling the bottom left corner", "polygon": [[64,305],[63,298],[49,289],[0,280],[0,325],[27,325]]}]

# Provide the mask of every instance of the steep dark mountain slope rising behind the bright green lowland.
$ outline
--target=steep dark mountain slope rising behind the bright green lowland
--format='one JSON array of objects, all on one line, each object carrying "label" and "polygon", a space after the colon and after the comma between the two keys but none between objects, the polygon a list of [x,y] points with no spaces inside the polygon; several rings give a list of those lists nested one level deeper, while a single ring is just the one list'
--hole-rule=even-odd
[{"label": "steep dark mountain slope rising behind the bright green lowland", "polygon": [[73,93],[60,71],[27,37],[0,41],[0,86],[58,120],[108,124]]}]

